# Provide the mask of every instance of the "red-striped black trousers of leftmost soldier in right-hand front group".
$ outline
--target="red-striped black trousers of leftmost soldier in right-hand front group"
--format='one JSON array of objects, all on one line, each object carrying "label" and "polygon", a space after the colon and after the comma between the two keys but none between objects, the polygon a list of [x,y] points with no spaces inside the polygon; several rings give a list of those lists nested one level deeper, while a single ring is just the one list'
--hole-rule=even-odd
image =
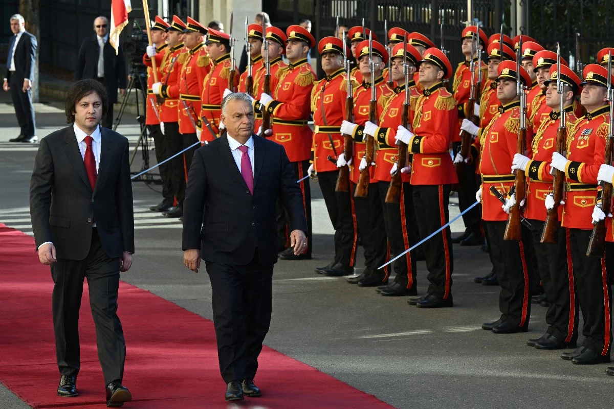
[{"label": "red-striped black trousers of leftmost soldier in right-hand front group", "polygon": [[495,275],[499,280],[499,310],[501,321],[509,321],[519,327],[529,326],[531,314],[531,267],[527,264],[528,255],[524,243],[531,240],[530,231],[522,226],[521,242],[503,240],[507,221],[484,221],[495,265]]}]

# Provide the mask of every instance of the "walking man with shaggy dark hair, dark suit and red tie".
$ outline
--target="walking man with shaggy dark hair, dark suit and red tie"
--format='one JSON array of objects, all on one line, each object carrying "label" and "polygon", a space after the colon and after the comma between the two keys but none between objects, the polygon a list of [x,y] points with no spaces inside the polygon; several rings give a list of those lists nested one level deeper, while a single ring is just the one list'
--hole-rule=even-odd
[{"label": "walking man with shaggy dark hair, dark suit and red tie", "polygon": [[134,253],[128,139],[98,126],[109,105],[86,79],[66,98],[67,128],[41,140],[30,182],[30,214],[42,264],[51,266],[58,396],[77,396],[79,307],[87,278],[107,406],[131,399],[122,386],[126,345],[117,317],[120,271]]}]

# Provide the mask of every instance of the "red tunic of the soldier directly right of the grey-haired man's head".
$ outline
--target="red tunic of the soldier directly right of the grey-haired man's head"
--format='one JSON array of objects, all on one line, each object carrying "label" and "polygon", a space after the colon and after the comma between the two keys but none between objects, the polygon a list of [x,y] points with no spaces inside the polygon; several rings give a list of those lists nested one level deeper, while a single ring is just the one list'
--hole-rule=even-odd
[{"label": "red tunic of the soldier directly right of the grey-haired man's head", "polygon": [[311,155],[311,89],[316,73],[301,59],[295,64],[280,67],[276,73],[277,85],[271,86],[273,101],[265,109],[271,113],[272,139],[286,149],[290,162],[306,161]]}]

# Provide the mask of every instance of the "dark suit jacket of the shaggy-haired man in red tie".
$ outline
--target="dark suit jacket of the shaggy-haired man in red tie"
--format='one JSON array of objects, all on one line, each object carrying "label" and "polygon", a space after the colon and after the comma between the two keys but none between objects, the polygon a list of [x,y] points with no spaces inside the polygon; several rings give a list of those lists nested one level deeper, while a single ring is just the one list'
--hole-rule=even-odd
[{"label": "dark suit jacket of the shaggy-haired man in red tie", "polygon": [[109,257],[134,253],[134,215],[128,139],[100,128],[96,186],[90,182],[71,126],[44,137],[30,180],[30,215],[36,248],[53,242],[58,258],[82,260],[93,219]]}]

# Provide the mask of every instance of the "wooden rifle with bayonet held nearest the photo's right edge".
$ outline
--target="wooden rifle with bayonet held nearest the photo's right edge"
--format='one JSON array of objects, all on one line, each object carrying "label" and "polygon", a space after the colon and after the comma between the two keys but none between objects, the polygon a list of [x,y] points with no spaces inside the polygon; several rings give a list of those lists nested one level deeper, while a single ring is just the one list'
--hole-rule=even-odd
[{"label": "wooden rifle with bayonet held nearest the photo's right edge", "polygon": [[[605,164],[611,165],[614,159],[614,90],[612,90],[612,51],[608,53],[608,103],[610,104],[610,129],[608,130],[608,138],[605,142]],[[588,242],[586,255],[591,257],[605,256],[605,220],[610,213],[612,207],[612,183],[602,181],[601,185],[601,201],[597,201],[602,212],[605,213],[604,220],[597,221],[593,226],[593,234]]]}]

